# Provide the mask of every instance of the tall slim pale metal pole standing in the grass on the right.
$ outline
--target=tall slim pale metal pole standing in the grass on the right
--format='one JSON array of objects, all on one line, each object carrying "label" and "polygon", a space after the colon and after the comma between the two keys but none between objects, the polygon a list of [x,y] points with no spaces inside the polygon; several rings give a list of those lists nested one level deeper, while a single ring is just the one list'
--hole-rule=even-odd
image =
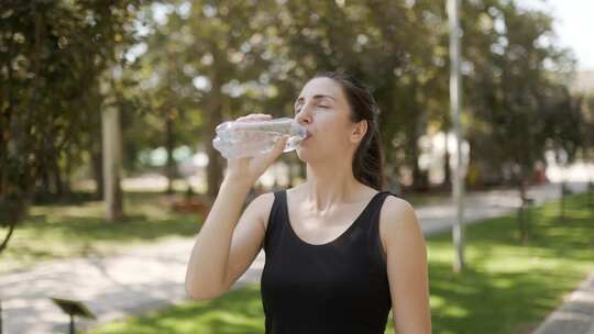
[{"label": "tall slim pale metal pole standing in the grass on the right", "polygon": [[464,268],[464,170],[462,162],[462,124],[460,120],[461,105],[461,81],[460,76],[460,24],[459,13],[460,0],[448,0],[448,18],[450,22],[450,114],[453,124],[457,142],[457,160],[455,170],[453,172],[453,202],[457,209],[457,223],[452,230],[452,237],[455,245],[455,263],[453,270],[461,271]]}]

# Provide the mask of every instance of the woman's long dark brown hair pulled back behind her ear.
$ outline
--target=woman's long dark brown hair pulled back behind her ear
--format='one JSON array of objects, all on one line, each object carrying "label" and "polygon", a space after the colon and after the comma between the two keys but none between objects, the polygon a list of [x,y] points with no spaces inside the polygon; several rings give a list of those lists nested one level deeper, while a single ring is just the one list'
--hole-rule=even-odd
[{"label": "woman's long dark brown hair pulled back behind her ear", "polygon": [[360,182],[377,191],[384,190],[384,152],[380,142],[380,108],[371,90],[344,71],[326,71],[316,75],[315,78],[329,78],[338,82],[351,107],[351,121],[354,123],[367,121],[367,132],[353,156],[353,174]]}]

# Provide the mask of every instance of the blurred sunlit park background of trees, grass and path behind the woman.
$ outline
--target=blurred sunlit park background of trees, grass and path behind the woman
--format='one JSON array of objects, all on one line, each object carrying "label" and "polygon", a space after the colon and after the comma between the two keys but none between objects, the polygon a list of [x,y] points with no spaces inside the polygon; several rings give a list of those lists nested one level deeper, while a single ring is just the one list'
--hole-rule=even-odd
[{"label": "blurred sunlit park background of trees, grass and path behind the woman", "polygon": [[[594,272],[594,3],[461,1],[459,166],[446,2],[1,1],[0,332],[66,331],[52,296],[87,303],[94,333],[263,332],[257,266],[222,299],[184,300],[226,172],[211,141],[241,115],[293,116],[324,70],[380,103],[386,189],[418,208],[428,237],[437,333],[536,330]],[[455,167],[466,222],[491,219],[469,227],[461,272]],[[305,177],[284,154],[249,200]],[[140,318],[111,323],[125,315]]]}]

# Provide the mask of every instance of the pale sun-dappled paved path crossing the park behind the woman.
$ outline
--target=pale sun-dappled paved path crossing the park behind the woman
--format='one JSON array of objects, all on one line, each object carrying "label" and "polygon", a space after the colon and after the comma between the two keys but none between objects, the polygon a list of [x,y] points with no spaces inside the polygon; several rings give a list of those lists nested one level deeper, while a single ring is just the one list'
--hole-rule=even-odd
[{"label": "pale sun-dappled paved path crossing the park behind the woman", "polygon": [[[582,191],[585,185],[573,183],[572,188]],[[556,199],[559,186],[536,187],[529,196],[537,204]],[[468,193],[465,222],[509,212],[519,204],[517,197],[512,190]],[[426,235],[451,229],[454,223],[455,212],[448,203],[417,207],[416,211]],[[184,301],[186,264],[193,244],[194,238],[172,238],[118,256],[46,263],[3,275],[0,298],[4,334],[66,333],[68,318],[52,304],[50,297],[82,300],[98,315],[98,321],[77,321],[82,327]],[[258,282],[263,267],[261,253],[235,288]]]}]

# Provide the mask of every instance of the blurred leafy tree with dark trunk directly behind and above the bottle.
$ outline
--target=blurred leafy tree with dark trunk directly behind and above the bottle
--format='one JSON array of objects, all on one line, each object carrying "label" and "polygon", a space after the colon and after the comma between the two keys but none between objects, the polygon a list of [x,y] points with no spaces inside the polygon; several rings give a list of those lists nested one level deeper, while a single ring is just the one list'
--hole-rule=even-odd
[{"label": "blurred leafy tree with dark trunk directly behind and above the bottle", "polygon": [[[211,141],[215,127],[226,119],[256,112],[257,100],[265,96],[261,77],[270,63],[264,55],[265,27],[271,26],[273,1],[219,2],[168,1],[157,4],[165,19],[153,22],[154,33],[147,38],[142,63],[153,85],[150,109],[153,113],[186,116],[199,124],[207,148],[208,196],[213,198],[222,179],[223,159]],[[157,20],[158,21],[158,20]],[[199,113],[199,118],[188,115]],[[170,120],[164,118],[164,120]],[[168,121],[166,121],[168,122]],[[174,130],[167,142],[178,137],[179,124],[164,124]],[[179,127],[178,127],[179,125]],[[184,127],[184,129],[182,129]],[[191,136],[194,145],[196,136]],[[177,142],[182,143],[182,142]],[[170,160],[170,159],[169,159]]]}]

